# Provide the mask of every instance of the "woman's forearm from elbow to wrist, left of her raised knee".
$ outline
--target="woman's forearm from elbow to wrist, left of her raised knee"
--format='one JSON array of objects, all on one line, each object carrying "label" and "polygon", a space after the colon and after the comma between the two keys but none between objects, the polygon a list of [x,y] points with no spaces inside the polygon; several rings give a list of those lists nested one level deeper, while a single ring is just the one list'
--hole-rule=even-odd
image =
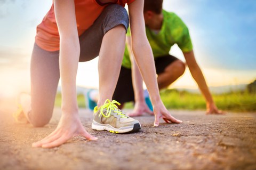
[{"label": "woman's forearm from elbow to wrist, left of her raised knee", "polygon": [[78,110],[76,74],[79,51],[79,44],[76,38],[71,39],[71,41],[60,41],[61,108],[70,113]]}]

